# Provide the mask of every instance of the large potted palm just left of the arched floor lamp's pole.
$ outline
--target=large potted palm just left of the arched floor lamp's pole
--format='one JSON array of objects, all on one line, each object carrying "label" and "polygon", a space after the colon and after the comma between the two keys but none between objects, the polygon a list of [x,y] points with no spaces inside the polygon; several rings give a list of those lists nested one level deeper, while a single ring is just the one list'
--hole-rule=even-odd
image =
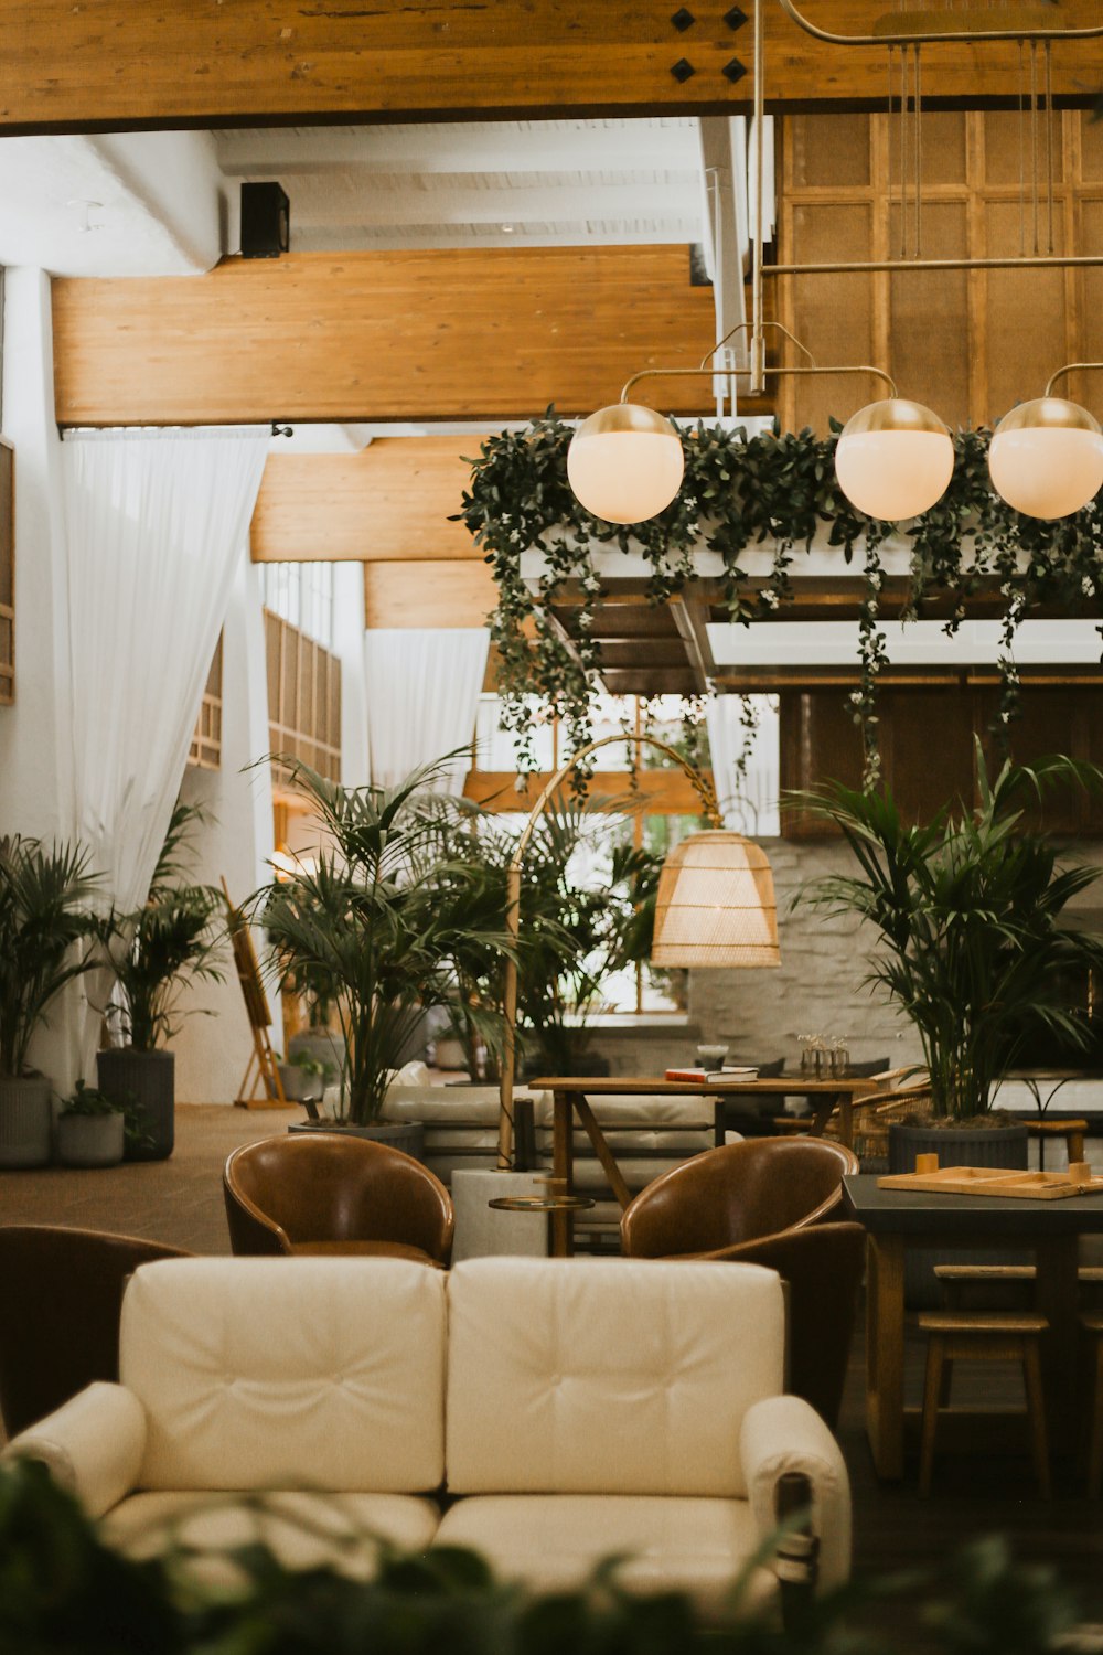
[{"label": "large potted palm just left of the arched floor lamp's pole", "polygon": [[278,874],[251,899],[279,985],[309,973],[336,1003],[344,1036],[342,1124],[372,1135],[390,1072],[430,1006],[456,981],[455,957],[503,948],[488,922],[475,866],[440,856],[418,794],[443,760],[395,788],[342,788],[298,760],[284,760],[294,786],[327,836],[316,859]]}]

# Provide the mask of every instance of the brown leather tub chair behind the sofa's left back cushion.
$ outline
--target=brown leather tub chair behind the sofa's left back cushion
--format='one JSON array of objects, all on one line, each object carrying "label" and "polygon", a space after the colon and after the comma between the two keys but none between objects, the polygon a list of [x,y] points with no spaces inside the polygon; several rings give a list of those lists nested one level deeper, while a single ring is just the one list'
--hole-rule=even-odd
[{"label": "brown leather tub chair behind the sofa's left back cushion", "polygon": [[303,1132],[245,1144],[223,1170],[233,1253],[332,1253],[446,1264],[443,1183],[387,1144]]}]

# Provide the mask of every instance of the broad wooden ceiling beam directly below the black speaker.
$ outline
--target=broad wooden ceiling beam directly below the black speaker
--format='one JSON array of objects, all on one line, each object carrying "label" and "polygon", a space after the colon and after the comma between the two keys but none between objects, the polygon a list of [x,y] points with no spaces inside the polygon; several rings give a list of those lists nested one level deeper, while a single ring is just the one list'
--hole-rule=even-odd
[{"label": "broad wooden ceiling beam directly below the black speaker", "polygon": [[[685,247],[293,253],[58,280],[53,333],[61,425],[589,414],[714,339]],[[703,387],[640,396],[693,412]]]}]

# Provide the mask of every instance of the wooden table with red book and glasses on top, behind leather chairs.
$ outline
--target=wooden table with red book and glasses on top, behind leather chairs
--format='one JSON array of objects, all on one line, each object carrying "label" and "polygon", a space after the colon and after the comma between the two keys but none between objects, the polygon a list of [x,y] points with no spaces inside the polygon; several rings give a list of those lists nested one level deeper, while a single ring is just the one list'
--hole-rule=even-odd
[{"label": "wooden table with red book and glasses on top, behind leather chairs", "polygon": [[[574,1117],[589,1137],[609,1185],[622,1208],[632,1200],[632,1190],[623,1180],[617,1158],[605,1142],[590,1097],[704,1097],[713,1104],[713,1140],[724,1142],[724,1097],[807,1097],[812,1104],[809,1134],[822,1134],[828,1117],[838,1109],[838,1137],[853,1145],[853,1101],[878,1091],[878,1082],[867,1076],[830,1076],[812,1079],[804,1074],[779,1074],[769,1079],[749,1081],[733,1076],[729,1081],[663,1081],[655,1076],[594,1076],[552,1074],[526,1081],[526,1089],[552,1094],[552,1178],[562,1195],[574,1193]],[[552,1213],[552,1253],[569,1256],[572,1250],[571,1211]]]}]

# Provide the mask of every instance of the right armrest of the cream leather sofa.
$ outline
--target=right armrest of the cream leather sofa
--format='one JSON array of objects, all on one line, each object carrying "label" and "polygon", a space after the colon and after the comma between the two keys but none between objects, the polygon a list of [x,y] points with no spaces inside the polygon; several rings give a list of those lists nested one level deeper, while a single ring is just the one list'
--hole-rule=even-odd
[{"label": "right armrest of the cream leather sofa", "polygon": [[747,1408],[739,1433],[747,1499],[762,1539],[777,1528],[777,1483],[787,1471],[812,1486],[812,1533],[820,1542],[819,1587],[850,1576],[850,1480],[838,1443],[800,1397],[766,1397]]}]

